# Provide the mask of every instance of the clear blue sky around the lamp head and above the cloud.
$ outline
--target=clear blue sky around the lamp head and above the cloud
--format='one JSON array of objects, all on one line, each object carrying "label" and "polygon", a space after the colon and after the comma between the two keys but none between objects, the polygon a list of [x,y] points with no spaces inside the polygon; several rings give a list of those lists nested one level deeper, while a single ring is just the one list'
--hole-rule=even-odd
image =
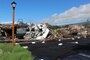
[{"label": "clear blue sky around the lamp head and above the cloud", "polygon": [[[0,22],[12,21],[13,0],[0,0]],[[89,4],[90,0],[14,0],[17,3],[15,21],[39,23],[53,14],[61,14],[72,7]],[[53,21],[53,20],[52,20]]]}]

